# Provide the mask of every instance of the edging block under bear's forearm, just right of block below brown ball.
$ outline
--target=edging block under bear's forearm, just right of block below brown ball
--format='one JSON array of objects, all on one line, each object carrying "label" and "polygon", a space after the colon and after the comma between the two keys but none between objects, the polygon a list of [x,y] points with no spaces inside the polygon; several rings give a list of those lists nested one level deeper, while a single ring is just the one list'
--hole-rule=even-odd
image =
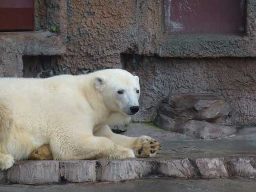
[{"label": "edging block under bear's forearm, just right of block below brown ball", "polygon": [[65,182],[96,181],[96,161],[60,161],[60,177]]}]

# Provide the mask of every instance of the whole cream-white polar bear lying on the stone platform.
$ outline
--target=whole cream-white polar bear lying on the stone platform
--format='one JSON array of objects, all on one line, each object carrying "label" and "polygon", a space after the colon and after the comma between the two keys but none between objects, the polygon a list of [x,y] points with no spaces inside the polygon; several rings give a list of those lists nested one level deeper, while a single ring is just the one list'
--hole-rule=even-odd
[{"label": "whole cream-white polar bear lying on the stone platform", "polygon": [[115,134],[108,125],[130,121],[139,96],[139,77],[121,69],[0,78],[0,168],[45,144],[56,160],[154,157],[156,140]]}]

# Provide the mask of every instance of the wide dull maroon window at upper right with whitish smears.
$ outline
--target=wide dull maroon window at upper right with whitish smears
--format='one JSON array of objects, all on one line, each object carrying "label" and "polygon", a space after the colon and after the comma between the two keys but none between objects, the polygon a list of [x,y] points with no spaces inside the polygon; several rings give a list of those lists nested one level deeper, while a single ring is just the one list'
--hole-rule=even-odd
[{"label": "wide dull maroon window at upper right with whitish smears", "polygon": [[245,5],[245,0],[164,0],[164,30],[167,33],[244,33]]}]

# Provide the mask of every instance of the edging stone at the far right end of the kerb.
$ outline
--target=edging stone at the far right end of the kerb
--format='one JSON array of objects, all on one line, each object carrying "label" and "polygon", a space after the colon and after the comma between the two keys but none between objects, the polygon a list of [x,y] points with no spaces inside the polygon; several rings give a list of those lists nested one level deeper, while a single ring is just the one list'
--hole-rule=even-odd
[{"label": "edging stone at the far right end of the kerb", "polygon": [[256,164],[252,157],[232,158],[229,168],[232,176],[256,178]]}]

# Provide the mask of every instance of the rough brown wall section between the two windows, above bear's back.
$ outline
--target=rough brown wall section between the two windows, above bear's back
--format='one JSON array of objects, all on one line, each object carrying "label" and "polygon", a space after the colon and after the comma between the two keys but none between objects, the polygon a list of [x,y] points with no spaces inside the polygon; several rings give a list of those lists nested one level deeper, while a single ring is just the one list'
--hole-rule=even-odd
[{"label": "rough brown wall section between the two windows, above bear's back", "polygon": [[68,1],[65,73],[120,68],[120,53],[137,38],[136,1]]}]

